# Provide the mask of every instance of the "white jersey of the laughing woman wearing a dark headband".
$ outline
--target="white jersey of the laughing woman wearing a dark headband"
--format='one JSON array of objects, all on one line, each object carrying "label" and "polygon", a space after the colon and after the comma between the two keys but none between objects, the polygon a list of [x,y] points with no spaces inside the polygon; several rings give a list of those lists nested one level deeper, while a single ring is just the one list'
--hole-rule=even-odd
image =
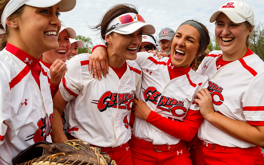
[{"label": "white jersey of the laughing woman wearing a dark headband", "polygon": [[[138,53],[136,63],[142,69],[142,90],[140,99],[150,109],[171,120],[183,121],[187,111],[199,110],[194,102],[194,95],[208,87],[208,77],[190,70],[183,76],[170,79],[167,62],[169,58],[158,59],[152,53]],[[171,67],[174,67],[170,64]],[[153,144],[177,144],[181,139],[165,133],[152,124],[136,117],[133,135]]]}]

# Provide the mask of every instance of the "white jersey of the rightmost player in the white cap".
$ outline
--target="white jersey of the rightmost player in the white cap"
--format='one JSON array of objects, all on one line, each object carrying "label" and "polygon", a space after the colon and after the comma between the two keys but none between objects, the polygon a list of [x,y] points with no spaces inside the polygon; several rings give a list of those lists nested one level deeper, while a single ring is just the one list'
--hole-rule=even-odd
[{"label": "white jersey of the rightmost player in the white cap", "polygon": [[[197,72],[209,77],[208,90],[213,97],[214,111],[231,119],[256,122],[264,121],[264,63],[251,50],[217,70],[216,60],[222,51],[211,51],[200,64]],[[207,143],[227,147],[248,148],[255,146],[233,138],[203,120],[198,137]]]}]

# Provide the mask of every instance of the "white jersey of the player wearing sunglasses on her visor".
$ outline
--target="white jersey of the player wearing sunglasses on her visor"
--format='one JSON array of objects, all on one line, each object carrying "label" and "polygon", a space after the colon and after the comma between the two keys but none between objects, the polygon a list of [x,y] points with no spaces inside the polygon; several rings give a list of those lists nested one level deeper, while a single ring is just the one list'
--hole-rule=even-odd
[{"label": "white jersey of the player wearing sunglasses on her visor", "polygon": [[98,81],[89,74],[89,55],[74,56],[66,65],[59,90],[69,102],[68,132],[100,147],[116,147],[131,138],[130,110],[134,97],[139,97],[141,70],[127,60],[127,69],[119,79],[109,68],[106,78]]}]

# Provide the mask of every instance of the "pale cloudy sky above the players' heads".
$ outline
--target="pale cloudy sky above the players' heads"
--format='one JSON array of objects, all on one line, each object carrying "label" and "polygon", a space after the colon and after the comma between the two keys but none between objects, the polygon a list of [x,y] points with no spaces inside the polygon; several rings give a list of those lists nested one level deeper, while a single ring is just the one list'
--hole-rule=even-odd
[{"label": "pale cloudy sky above the players' heads", "polygon": [[[263,0],[242,1],[249,4],[253,9],[255,22],[264,21]],[[214,23],[210,23],[209,18],[226,2],[226,0],[77,0],[75,8],[72,11],[61,13],[60,19],[66,26],[72,27],[77,35],[90,37],[93,45],[101,44],[100,36],[97,35],[99,31],[92,31],[88,25],[97,25],[111,6],[119,3],[130,3],[137,6],[139,14],[147,23],[151,23],[155,27],[155,38],[158,38],[161,29],[169,27],[176,31],[182,22],[190,19],[203,23],[209,32],[214,34]]]}]

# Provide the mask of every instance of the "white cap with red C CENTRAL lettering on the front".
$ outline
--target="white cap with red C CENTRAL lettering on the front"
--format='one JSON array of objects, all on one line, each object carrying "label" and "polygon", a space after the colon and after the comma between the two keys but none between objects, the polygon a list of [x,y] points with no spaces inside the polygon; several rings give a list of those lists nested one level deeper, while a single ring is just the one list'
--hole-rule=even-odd
[{"label": "white cap with red C CENTRAL lettering on the front", "polygon": [[252,8],[241,1],[229,1],[214,12],[210,18],[210,22],[216,21],[218,15],[223,12],[232,22],[242,23],[248,21],[251,25],[254,24],[254,12]]}]

